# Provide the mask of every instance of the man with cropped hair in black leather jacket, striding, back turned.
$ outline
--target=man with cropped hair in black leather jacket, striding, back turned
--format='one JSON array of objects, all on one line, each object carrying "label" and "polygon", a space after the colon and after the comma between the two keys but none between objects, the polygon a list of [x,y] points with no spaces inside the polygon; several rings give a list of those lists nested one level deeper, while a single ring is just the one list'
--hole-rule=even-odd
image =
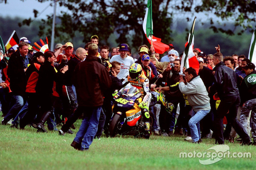
[{"label": "man with cropped hair in black leather jacket, striding, back turned", "polygon": [[209,87],[209,91],[217,92],[221,100],[213,121],[215,143],[224,144],[223,118],[226,116],[227,121],[231,123],[236,133],[243,139],[243,144],[250,145],[252,144],[251,138],[236,118],[240,104],[239,91],[236,86],[236,73],[225,66],[221,53],[213,55],[213,63],[215,65],[214,84]]}]

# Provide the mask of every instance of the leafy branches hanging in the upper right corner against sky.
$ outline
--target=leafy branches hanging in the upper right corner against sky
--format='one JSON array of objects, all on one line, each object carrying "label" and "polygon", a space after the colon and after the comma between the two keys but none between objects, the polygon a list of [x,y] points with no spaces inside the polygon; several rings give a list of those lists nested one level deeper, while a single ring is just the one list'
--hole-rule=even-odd
[{"label": "leafy branches hanging in the upper right corner against sky", "polygon": [[[211,21],[211,29],[214,32],[222,32],[228,35],[234,35],[236,28],[241,28],[238,35],[245,30],[253,32],[252,23],[255,22],[255,0],[202,0],[199,4],[194,4],[193,0],[183,0],[181,5],[176,5],[177,10],[186,12],[204,12]],[[188,18],[189,19],[189,18]],[[235,29],[224,29],[227,22],[234,22]],[[216,23],[220,27],[216,26]],[[223,25],[221,27],[221,25]]]}]

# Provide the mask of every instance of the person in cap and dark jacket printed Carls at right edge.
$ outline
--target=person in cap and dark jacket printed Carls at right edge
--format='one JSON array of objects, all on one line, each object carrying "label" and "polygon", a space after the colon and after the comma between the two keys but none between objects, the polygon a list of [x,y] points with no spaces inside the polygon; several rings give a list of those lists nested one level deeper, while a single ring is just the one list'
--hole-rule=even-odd
[{"label": "person in cap and dark jacket printed Carls at right edge", "polygon": [[[240,114],[240,122],[243,125],[245,131],[247,131],[247,125],[252,120],[252,137],[253,137],[253,145],[256,145],[256,71],[255,65],[253,63],[247,63],[242,67],[246,76],[243,78],[241,84],[241,103],[243,103],[243,107]],[[250,112],[251,118],[250,117]],[[248,131],[250,134],[250,131]],[[248,133],[247,132],[247,133]]]}]

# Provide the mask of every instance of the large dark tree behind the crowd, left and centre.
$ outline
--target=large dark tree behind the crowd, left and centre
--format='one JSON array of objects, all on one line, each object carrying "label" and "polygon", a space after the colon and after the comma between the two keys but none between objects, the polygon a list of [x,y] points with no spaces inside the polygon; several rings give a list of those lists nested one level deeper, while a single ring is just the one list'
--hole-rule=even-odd
[{"label": "large dark tree behind the crowd, left and centre", "polygon": [[[43,2],[44,0],[39,0]],[[83,34],[84,42],[88,42],[94,34],[98,35],[101,43],[108,44],[110,34],[117,33],[117,43],[132,42],[138,47],[148,43],[142,29],[147,1],[145,0],[59,0],[60,6],[65,6],[68,11],[62,11],[58,16],[59,24],[55,27],[55,36],[63,37],[62,40],[72,39],[78,31]],[[170,42],[171,13],[168,12],[170,1],[155,0],[153,3],[153,22],[156,37],[161,37],[163,42]],[[162,8],[165,6],[165,8]],[[35,17],[38,11],[34,10]],[[42,19],[39,36],[51,35],[52,15],[47,20]],[[31,18],[25,19],[20,25],[29,25]],[[128,34],[133,34],[131,37]],[[63,36],[64,35],[64,36]],[[128,40],[129,38],[129,40]],[[50,39],[50,38],[49,38]]]}]

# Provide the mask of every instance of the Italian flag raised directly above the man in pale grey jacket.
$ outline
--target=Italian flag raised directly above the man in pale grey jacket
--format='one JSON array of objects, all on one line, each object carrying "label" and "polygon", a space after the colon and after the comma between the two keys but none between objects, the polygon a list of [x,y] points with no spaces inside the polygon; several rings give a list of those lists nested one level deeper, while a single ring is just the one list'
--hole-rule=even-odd
[{"label": "Italian flag raised directly above the man in pale grey jacket", "polygon": [[183,67],[189,68],[192,67],[196,70],[198,74],[199,70],[199,63],[195,54],[193,53],[193,46],[194,46],[194,27],[195,27],[196,17],[193,21],[193,25],[188,35],[188,42],[186,43],[185,51],[183,53],[183,57],[181,59],[180,71],[182,71]]}]

